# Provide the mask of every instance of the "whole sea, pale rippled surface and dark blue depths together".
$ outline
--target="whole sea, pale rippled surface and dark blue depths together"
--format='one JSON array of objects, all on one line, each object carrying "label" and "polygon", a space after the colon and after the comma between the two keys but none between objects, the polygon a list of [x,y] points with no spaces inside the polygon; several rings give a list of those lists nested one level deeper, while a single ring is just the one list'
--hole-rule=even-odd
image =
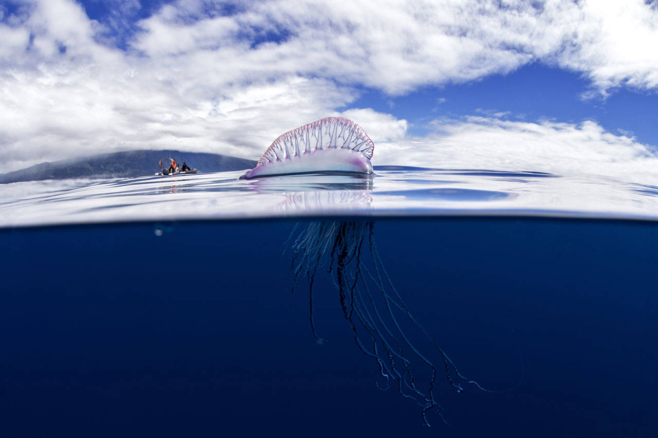
[{"label": "whole sea, pale rippled surface and dark blue depths together", "polygon": [[658,436],[658,187],[375,172],[1,185],[0,436]]}]

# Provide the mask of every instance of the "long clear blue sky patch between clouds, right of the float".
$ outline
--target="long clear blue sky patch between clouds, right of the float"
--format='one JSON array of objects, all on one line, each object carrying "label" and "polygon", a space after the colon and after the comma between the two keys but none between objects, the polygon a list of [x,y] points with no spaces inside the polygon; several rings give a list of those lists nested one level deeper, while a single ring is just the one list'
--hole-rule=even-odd
[{"label": "long clear blue sky patch between clouds, right of the float", "polygon": [[505,112],[507,118],[549,118],[578,123],[595,120],[613,133],[634,135],[638,141],[658,145],[658,97],[655,93],[617,89],[606,97],[583,99],[588,80],[576,72],[542,64],[523,66],[514,72],[494,74],[482,80],[444,87],[424,87],[400,97],[367,90],[353,105],[372,107],[406,118],[422,134],[424,121],[437,116],[465,116]]}]

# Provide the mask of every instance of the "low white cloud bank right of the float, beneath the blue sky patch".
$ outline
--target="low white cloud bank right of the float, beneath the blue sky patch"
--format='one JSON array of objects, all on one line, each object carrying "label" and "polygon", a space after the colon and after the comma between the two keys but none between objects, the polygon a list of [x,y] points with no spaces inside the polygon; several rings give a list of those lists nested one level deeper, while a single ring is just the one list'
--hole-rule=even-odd
[{"label": "low white cloud bank right of the float, beneath the blue sky patch", "polygon": [[534,123],[468,116],[430,125],[434,132],[427,137],[378,144],[373,164],[591,174],[658,184],[654,147],[611,134],[592,120]]}]

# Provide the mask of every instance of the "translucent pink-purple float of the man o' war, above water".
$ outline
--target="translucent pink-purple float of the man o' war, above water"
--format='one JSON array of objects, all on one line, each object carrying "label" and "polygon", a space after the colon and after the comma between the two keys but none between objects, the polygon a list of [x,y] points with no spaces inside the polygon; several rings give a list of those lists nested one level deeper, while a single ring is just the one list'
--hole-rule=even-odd
[{"label": "translucent pink-purple float of the man o' war, above water", "polygon": [[280,135],[241,178],[308,172],[372,173],[374,144],[351,120],[326,117]]}]

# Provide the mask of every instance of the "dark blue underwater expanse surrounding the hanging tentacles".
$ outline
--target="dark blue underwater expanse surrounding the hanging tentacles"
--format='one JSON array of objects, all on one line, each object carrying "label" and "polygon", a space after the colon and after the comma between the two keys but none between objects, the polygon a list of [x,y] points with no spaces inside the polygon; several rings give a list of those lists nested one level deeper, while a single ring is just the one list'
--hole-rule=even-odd
[{"label": "dark blue underwater expanse surrounding the hanging tentacles", "polygon": [[461,372],[523,376],[457,394],[438,364],[449,425],[428,428],[377,389],[326,274],[316,343],[307,283],[290,295],[295,222],[0,230],[0,436],[658,436],[658,225],[377,220],[393,283]]}]

